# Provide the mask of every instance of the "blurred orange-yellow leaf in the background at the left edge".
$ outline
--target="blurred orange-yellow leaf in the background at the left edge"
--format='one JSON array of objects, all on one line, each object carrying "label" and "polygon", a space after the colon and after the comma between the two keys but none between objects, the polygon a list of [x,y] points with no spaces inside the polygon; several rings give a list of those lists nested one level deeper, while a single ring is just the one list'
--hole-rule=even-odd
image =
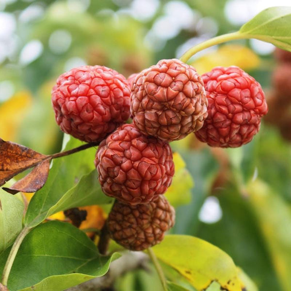
[{"label": "blurred orange-yellow leaf in the background at the left edge", "polygon": [[15,141],[25,114],[32,104],[32,95],[28,91],[16,93],[0,105],[0,137],[5,141]]}]

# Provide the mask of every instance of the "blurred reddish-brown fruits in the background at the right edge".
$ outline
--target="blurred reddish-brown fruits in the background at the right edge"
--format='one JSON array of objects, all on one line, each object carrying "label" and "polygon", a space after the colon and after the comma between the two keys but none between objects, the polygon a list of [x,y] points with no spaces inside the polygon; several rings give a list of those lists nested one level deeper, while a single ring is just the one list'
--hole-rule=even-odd
[{"label": "blurred reddish-brown fruits in the background at the right edge", "polygon": [[274,124],[281,135],[291,141],[291,52],[275,49],[277,66],[273,72],[273,89],[268,96],[270,112],[266,121]]}]

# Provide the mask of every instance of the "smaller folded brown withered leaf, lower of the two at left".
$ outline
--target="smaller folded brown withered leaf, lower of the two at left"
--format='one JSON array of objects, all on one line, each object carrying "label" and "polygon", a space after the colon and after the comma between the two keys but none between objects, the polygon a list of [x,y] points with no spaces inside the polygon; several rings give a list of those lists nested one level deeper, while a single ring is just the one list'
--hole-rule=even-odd
[{"label": "smaller folded brown withered leaf, lower of the two at left", "polygon": [[51,159],[48,158],[43,162],[40,162],[24,178],[18,180],[10,188],[3,187],[3,190],[11,194],[16,194],[17,192],[32,193],[39,190],[48,179],[50,161]]}]

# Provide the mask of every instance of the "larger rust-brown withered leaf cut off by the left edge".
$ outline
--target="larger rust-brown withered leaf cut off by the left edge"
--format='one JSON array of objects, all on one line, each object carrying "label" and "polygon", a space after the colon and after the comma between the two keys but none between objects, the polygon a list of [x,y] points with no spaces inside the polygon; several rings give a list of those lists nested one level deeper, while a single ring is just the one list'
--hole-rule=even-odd
[{"label": "larger rust-brown withered leaf cut off by the left edge", "polygon": [[0,186],[48,157],[26,146],[5,142],[0,139]]}]

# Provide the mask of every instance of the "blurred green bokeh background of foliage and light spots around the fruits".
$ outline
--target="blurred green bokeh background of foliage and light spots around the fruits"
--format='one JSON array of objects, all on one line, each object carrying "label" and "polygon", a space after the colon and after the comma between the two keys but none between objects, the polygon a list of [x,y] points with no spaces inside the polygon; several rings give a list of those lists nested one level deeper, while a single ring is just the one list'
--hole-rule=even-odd
[{"label": "blurred green bokeh background of foliage and light spots around the fruits", "polygon": [[[44,154],[57,152],[63,134],[50,91],[60,74],[106,65],[128,77],[236,31],[274,4],[291,6],[290,0],[0,0],[0,137]],[[278,51],[274,57],[274,50],[241,40],[190,60],[199,73],[216,65],[242,67],[261,83],[270,112],[242,148],[209,148],[194,134],[172,143],[194,180],[185,193],[181,180],[173,232],[226,251],[259,290],[290,291],[291,57]],[[253,193],[244,191],[255,178],[262,182]],[[134,290],[156,290],[144,273],[131,275]],[[116,290],[129,290],[127,280],[120,278]]]}]

